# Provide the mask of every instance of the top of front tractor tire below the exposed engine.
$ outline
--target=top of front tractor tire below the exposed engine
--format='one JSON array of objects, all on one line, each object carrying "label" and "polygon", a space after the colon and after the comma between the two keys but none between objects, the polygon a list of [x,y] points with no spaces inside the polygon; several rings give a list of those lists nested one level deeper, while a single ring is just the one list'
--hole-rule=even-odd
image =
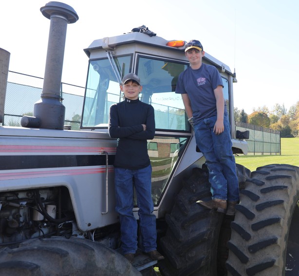
[{"label": "top of front tractor tire below the exposed engine", "polygon": [[1,276],[137,276],[122,255],[99,242],[71,237],[27,240],[0,250]]}]

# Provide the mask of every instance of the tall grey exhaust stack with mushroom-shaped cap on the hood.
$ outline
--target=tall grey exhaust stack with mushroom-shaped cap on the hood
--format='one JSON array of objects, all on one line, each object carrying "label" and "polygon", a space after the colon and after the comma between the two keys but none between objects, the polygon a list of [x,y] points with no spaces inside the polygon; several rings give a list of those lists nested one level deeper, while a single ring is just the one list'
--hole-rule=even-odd
[{"label": "tall grey exhaust stack with mushroom-shaped cap on the hood", "polygon": [[65,106],[60,102],[60,85],[68,23],[79,18],[75,10],[64,3],[51,1],[40,8],[50,19],[50,32],[45,76],[40,100],[34,104],[33,117],[23,116],[22,127],[63,129]]}]

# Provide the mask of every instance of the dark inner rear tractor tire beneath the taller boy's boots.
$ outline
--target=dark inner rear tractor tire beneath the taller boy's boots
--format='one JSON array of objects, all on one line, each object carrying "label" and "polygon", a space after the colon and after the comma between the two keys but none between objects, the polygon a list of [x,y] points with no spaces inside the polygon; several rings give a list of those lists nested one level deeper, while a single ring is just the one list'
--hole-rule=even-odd
[{"label": "dark inner rear tractor tire beneath the taller boy's boots", "polygon": [[168,230],[160,240],[165,259],[158,263],[162,275],[217,275],[217,245],[224,215],[196,203],[210,197],[208,172],[194,168],[166,216]]}]

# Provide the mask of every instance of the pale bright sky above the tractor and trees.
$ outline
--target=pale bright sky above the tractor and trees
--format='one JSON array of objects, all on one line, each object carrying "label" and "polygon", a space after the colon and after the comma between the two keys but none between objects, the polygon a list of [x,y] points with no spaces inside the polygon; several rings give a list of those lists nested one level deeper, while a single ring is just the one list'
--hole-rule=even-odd
[{"label": "pale bright sky above the tractor and trees", "polygon": [[[50,1],[0,2],[0,48],[9,70],[44,77],[50,20],[40,8]],[[79,20],[68,24],[62,82],[85,86],[95,39],[146,25],[168,40],[200,40],[209,55],[236,71],[234,106],[249,115],[299,101],[298,0],[61,0]]]}]

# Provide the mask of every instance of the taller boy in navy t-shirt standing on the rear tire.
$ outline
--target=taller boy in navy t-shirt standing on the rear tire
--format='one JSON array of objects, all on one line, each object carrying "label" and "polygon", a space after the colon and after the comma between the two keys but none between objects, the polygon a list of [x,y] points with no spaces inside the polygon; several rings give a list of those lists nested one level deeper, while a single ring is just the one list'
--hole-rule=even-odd
[{"label": "taller boy in navy t-shirt standing on the rear tire", "polygon": [[181,94],[196,144],[206,158],[212,198],[197,201],[208,208],[233,216],[239,201],[239,183],[221,76],[202,62],[205,52],[198,40],[186,44],[190,66],[179,75],[175,93]]}]

